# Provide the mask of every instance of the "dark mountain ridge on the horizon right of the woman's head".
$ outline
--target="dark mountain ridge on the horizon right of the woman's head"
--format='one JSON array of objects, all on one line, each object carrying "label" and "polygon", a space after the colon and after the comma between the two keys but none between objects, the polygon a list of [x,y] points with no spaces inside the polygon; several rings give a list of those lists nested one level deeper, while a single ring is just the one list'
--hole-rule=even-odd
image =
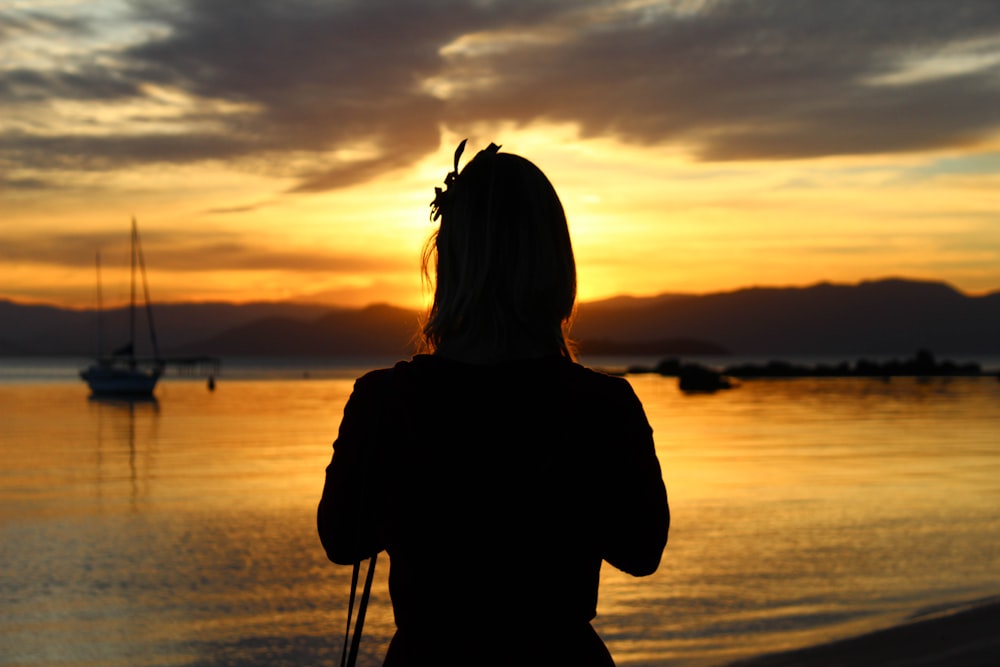
[{"label": "dark mountain ridge on the horizon right of the woman's head", "polygon": [[1000,292],[970,297],[943,283],[886,279],[858,285],[747,288],[580,307],[581,340],[712,341],[735,354],[1000,353]]}]

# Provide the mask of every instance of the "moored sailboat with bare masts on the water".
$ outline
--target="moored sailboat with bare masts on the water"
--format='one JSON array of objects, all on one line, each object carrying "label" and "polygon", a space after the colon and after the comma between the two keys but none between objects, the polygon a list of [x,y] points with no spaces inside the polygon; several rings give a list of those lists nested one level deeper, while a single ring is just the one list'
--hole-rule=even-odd
[{"label": "moored sailboat with bare masts on the water", "polygon": [[[132,290],[129,303],[129,341],[114,350],[110,356],[105,356],[101,350],[102,342],[98,341],[97,359],[86,369],[80,371],[80,377],[86,381],[90,391],[95,396],[130,396],[148,397],[153,395],[156,383],[160,379],[165,366],[156,344],[156,330],[153,328],[153,310],[149,302],[149,286],[146,283],[146,264],[142,257],[142,246],[139,243],[139,228],[135,217],[132,218]],[[135,272],[138,266],[142,274],[142,287],[145,296],[146,314],[149,318],[149,333],[153,344],[153,358],[142,360],[135,355]],[[97,300],[99,316],[101,306],[100,255],[97,260]],[[98,339],[102,333],[99,328]]]}]

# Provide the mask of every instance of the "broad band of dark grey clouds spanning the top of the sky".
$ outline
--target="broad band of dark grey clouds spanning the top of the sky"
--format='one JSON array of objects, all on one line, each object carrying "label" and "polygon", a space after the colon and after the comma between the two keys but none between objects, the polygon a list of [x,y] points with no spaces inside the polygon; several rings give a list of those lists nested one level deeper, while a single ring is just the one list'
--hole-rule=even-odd
[{"label": "broad band of dark grey clouds spanning the top of the sky", "polygon": [[[130,6],[131,39],[98,46],[86,16],[8,11],[7,44],[80,41],[72,58],[0,64],[0,113],[16,121],[0,131],[0,168],[263,159],[296,177],[292,191],[317,192],[414,164],[442,127],[483,123],[571,123],[706,161],[1000,132],[994,0]],[[98,107],[117,120],[85,111]]]}]

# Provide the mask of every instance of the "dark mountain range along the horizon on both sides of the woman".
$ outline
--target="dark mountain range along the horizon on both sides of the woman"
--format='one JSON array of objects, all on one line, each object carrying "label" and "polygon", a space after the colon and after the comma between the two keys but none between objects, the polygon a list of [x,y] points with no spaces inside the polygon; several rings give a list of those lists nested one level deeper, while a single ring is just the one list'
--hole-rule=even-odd
[{"label": "dark mountain range along the horizon on both sides of the woman", "polygon": [[[154,305],[165,354],[218,357],[407,356],[420,313],[297,303]],[[0,356],[93,355],[127,341],[128,309],[99,314],[0,301]],[[137,353],[149,354],[136,311]],[[1000,291],[890,278],[854,285],[751,287],[710,294],[617,297],[579,305],[572,336],[583,354],[1000,354]]]}]

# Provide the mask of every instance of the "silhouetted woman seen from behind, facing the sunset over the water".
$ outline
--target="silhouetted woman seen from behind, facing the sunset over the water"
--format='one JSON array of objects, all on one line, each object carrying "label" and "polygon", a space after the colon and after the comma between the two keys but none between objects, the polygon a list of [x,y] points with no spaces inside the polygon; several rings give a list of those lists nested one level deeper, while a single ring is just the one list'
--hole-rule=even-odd
[{"label": "silhouetted woman seen from behind, facing the sunset over the water", "polygon": [[[463,142],[464,145],[464,142]],[[385,665],[613,665],[601,562],[652,574],[669,510],[624,379],[576,364],[576,268],[538,167],[491,145],[448,175],[425,354],[360,378],[319,505],[330,560],[385,550]]]}]

